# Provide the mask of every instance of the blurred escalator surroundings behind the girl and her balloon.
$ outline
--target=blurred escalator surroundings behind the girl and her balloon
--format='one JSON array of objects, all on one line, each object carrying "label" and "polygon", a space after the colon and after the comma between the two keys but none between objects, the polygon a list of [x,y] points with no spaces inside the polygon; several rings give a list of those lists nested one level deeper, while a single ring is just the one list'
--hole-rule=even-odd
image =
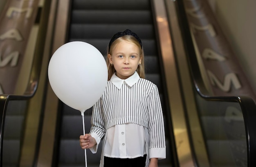
[{"label": "blurred escalator surroundings behind the girl and her balloon", "polygon": [[[166,131],[159,167],[255,167],[255,7],[255,0],[1,0],[0,167],[85,166],[81,113],[54,94],[49,60],[71,41],[106,58],[112,35],[125,29],[141,38],[146,79],[159,89]],[[88,167],[99,166],[100,154],[101,145],[97,154],[87,150]]]}]

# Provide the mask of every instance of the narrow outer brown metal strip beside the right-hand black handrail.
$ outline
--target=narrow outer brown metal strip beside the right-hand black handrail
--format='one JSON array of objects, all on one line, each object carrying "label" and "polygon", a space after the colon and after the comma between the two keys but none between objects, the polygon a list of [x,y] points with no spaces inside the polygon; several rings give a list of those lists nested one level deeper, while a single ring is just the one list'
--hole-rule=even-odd
[{"label": "narrow outer brown metal strip beside the right-hand black handrail", "polygon": [[177,58],[177,66],[180,72],[180,79],[182,82],[182,90],[184,94],[184,102],[186,105],[186,113],[189,119],[189,128],[191,131],[191,144],[195,151],[195,158],[199,167],[209,167],[209,160],[207,157],[207,150],[202,135],[202,129],[200,127],[200,120],[198,118],[197,107],[195,97],[193,94],[193,83],[191,83],[191,76],[189,72],[189,65],[186,58],[186,53],[182,41],[180,32],[180,26],[178,23],[177,11],[173,2],[166,0],[166,9],[168,13],[169,22],[171,25],[171,34],[173,41],[173,47],[175,48],[175,54]]}]

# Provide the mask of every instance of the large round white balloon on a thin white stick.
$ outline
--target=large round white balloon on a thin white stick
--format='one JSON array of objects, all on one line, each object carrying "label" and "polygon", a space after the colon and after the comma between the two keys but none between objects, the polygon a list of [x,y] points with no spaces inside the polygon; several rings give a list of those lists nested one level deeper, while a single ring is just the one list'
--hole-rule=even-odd
[{"label": "large round white balloon on a thin white stick", "polygon": [[54,52],[49,61],[48,78],[62,102],[84,112],[103,94],[108,82],[108,69],[97,48],[86,42],[74,41]]}]

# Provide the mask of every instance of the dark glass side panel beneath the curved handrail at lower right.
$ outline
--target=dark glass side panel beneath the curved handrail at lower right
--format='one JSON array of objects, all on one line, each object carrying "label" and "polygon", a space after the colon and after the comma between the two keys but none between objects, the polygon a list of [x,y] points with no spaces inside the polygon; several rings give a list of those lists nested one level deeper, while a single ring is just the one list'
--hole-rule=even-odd
[{"label": "dark glass side panel beneath the curved handrail at lower right", "polygon": [[211,167],[247,167],[247,128],[243,118],[246,113],[239,102],[205,100],[200,95],[196,98]]}]

